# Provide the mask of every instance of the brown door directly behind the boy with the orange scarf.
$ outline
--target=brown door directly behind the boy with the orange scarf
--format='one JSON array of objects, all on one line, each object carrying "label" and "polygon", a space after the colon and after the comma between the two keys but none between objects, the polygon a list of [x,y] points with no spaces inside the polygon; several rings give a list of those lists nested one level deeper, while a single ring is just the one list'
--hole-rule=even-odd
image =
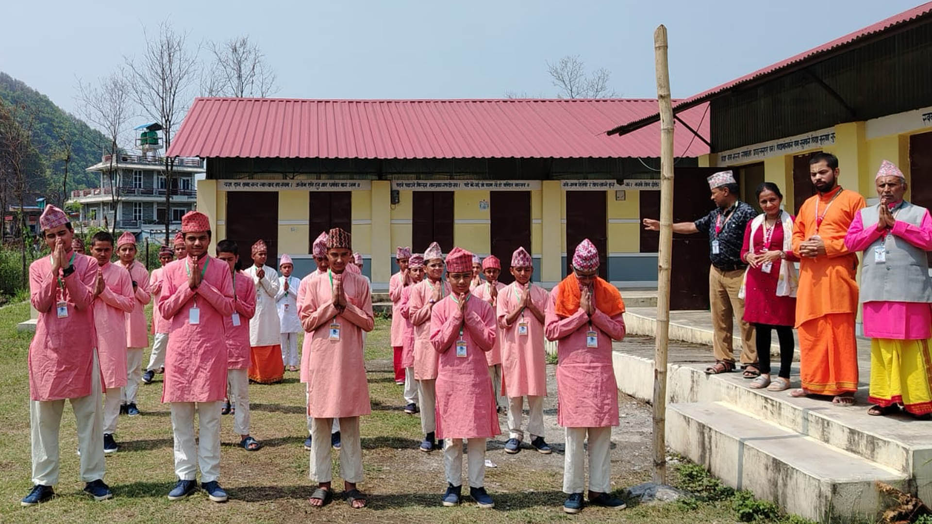
[{"label": "brown door directly behind the boy with the orange scarf", "polygon": [[598,250],[598,276],[609,280],[606,198],[605,191],[567,191],[567,274],[576,246],[589,239]]}]

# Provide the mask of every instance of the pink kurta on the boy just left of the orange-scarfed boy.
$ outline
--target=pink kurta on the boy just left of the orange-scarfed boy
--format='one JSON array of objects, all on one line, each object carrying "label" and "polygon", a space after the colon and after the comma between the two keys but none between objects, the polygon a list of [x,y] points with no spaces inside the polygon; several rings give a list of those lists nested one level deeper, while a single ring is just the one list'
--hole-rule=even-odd
[{"label": "pink kurta on the boy just left of the orange-scarfed boy", "polygon": [[[547,308],[547,290],[532,283],[530,299],[541,311]],[[543,349],[543,324],[528,310],[505,324],[505,318],[514,311],[521,296],[526,293],[523,286],[513,282],[499,292],[498,324],[501,347],[501,375],[505,382],[501,394],[515,397],[524,395],[546,396],[547,353]],[[528,335],[518,335],[519,324],[528,324]]]}]

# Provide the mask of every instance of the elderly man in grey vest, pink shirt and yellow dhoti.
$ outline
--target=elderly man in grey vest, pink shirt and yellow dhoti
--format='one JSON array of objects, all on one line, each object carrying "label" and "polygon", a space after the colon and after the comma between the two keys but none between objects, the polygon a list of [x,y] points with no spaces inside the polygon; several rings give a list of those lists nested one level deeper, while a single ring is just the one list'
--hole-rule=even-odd
[{"label": "elderly man in grey vest, pink shirt and yellow dhoti", "polygon": [[875,177],[880,202],[862,209],[844,237],[849,251],[864,252],[860,298],[864,335],[870,337],[870,415],[899,406],[917,418],[932,413],[929,338],[932,338],[932,217],[903,200],[906,178],[884,160]]}]

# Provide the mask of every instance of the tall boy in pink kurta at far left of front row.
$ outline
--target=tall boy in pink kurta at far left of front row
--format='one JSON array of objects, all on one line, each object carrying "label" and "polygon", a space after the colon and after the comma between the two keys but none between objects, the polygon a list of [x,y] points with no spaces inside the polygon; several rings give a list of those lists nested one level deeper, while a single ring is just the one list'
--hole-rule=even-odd
[{"label": "tall boy in pink kurta at far left of front row", "polygon": [[75,412],[80,475],[94,500],[113,497],[103,483],[103,409],[91,304],[103,292],[94,259],[75,253],[75,230],[64,212],[47,205],[39,227],[51,255],[29,266],[29,298],[39,316],[29,344],[29,427],[33,490],[21,504],[50,500],[59,480],[59,429],[64,401]]}]

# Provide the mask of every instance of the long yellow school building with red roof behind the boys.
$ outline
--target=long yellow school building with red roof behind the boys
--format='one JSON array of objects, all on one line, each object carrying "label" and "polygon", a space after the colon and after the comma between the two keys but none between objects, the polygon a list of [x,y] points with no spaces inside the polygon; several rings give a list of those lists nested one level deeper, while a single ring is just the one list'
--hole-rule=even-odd
[{"label": "long yellow school building with red roof behind the boys", "polygon": [[[395,246],[417,253],[431,241],[506,267],[525,246],[534,280],[553,285],[590,238],[604,277],[650,287],[656,241],[642,241],[639,222],[659,210],[659,129],[605,131],[656,110],[655,100],[199,98],[168,154],[205,159],[198,209],[247,263],[262,238],[271,260],[287,253],[304,275],[313,240],[340,227],[377,291],[397,268]],[[706,110],[678,115],[678,168],[709,152]]]}]

